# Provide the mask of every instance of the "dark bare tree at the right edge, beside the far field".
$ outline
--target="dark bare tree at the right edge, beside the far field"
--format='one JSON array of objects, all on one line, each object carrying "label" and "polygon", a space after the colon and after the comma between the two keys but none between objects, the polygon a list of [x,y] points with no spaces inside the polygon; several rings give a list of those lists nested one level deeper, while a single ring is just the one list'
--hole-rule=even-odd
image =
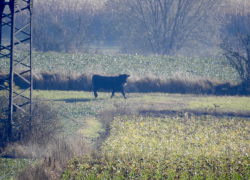
[{"label": "dark bare tree at the right edge, beside the far field", "polygon": [[226,15],[226,23],[221,30],[223,55],[237,70],[245,87],[250,85],[250,13]]}]

